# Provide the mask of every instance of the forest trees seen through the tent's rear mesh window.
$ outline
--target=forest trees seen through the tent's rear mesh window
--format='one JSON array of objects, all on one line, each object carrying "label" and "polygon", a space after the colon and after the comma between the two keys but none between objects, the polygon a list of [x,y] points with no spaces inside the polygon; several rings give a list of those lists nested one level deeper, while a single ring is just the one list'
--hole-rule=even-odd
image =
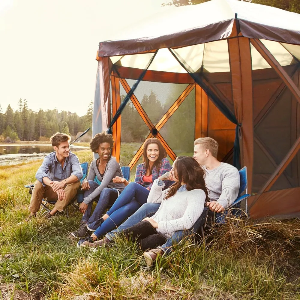
[{"label": "forest trees seen through the tent's rear mesh window", "polygon": [[[164,116],[186,86],[185,84],[173,83],[166,99],[159,99],[153,90],[150,91],[149,95],[144,94],[140,103],[154,125]],[[124,98],[125,95],[121,95],[121,100]],[[190,92],[159,133],[173,151],[178,153],[182,151],[193,152],[194,128],[195,89]],[[149,128],[132,102],[129,101],[121,114],[121,142],[142,144],[149,133]]]}]

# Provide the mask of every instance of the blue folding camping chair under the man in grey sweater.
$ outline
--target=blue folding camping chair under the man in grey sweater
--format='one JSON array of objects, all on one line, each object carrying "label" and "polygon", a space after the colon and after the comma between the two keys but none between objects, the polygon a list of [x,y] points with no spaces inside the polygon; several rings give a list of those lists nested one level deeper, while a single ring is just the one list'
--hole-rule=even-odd
[{"label": "blue folding camping chair under the man in grey sweater", "polygon": [[[238,190],[238,197],[236,200],[230,205],[230,211],[232,215],[238,215],[241,213],[241,201],[246,199],[246,214],[247,214],[247,198],[250,196],[248,194],[248,181],[247,181],[247,167],[243,167],[238,171],[240,173],[240,189]],[[209,213],[210,214],[210,213]],[[222,213],[214,214],[216,223],[225,223],[225,218],[228,215],[228,209],[226,209]]]}]

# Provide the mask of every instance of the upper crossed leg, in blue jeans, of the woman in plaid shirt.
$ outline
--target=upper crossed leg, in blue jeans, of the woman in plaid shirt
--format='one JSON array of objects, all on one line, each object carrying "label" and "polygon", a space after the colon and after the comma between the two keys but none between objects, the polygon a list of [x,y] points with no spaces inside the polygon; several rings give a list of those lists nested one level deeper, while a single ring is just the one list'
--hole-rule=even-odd
[{"label": "upper crossed leg, in blue jeans, of the woman in plaid shirt", "polygon": [[147,190],[145,187],[141,186],[140,184],[138,184],[136,182],[131,182],[130,184],[128,184],[125,187],[125,189],[120,194],[120,196],[118,197],[116,202],[113,204],[113,206],[110,208],[110,210],[107,211],[106,214],[107,214],[107,216],[110,216],[111,214],[113,214],[113,212],[117,211],[119,208],[121,208],[125,204],[131,202],[131,200],[134,197],[136,199],[141,199],[139,201],[147,202],[148,195],[149,195],[149,190]]}]

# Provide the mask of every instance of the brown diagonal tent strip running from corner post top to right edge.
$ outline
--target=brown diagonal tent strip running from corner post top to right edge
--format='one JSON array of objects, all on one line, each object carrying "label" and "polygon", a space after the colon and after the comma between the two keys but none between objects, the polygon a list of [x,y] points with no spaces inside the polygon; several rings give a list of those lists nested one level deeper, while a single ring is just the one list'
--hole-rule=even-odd
[{"label": "brown diagonal tent strip running from corner post top to right edge", "polygon": [[296,100],[300,103],[300,91],[298,87],[295,85],[292,78],[286,73],[283,67],[281,67],[280,63],[276,60],[276,58],[267,49],[267,47],[264,44],[262,44],[262,42],[259,39],[251,38],[250,42],[255,47],[255,49],[260,53],[260,55],[262,55],[265,61],[275,70],[278,76],[286,84],[287,88],[295,96]]}]

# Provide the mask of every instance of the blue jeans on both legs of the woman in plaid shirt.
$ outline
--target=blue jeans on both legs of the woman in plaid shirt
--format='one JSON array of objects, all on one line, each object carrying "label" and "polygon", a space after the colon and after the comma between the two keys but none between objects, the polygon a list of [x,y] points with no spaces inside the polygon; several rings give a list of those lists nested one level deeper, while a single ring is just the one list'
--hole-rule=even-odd
[{"label": "blue jeans on both legs of the woman in plaid shirt", "polygon": [[136,182],[128,184],[110,210],[107,211],[109,217],[93,234],[100,237],[119,226],[127,217],[147,202],[148,195],[149,190],[140,184]]}]

